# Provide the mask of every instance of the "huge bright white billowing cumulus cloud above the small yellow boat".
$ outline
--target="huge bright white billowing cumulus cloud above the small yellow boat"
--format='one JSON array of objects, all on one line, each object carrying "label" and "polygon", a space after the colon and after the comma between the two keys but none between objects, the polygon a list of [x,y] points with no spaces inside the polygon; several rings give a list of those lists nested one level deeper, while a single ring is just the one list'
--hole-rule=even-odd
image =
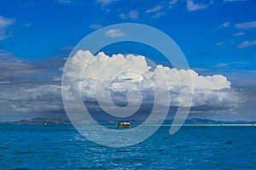
[{"label": "huge bright white billowing cumulus cloud above the small yellow boat", "polygon": [[[101,93],[108,94],[110,90],[114,94],[113,98],[124,98],[125,93],[131,89],[140,89],[143,96],[147,96],[148,90],[153,84],[167,84],[162,88],[155,89],[156,93],[170,93],[172,96],[172,106],[179,105],[180,102],[180,82],[183,82],[183,96],[189,96],[189,88],[193,87],[194,107],[230,107],[237,101],[236,95],[230,89],[230,82],[222,75],[202,77],[193,70],[177,70],[163,65],[157,65],[154,70],[148,66],[146,59],[141,55],[114,54],[108,56],[99,53],[96,56],[90,51],[79,50],[73,58],[69,58],[66,65],[64,77],[73,82],[70,87],[78,87],[76,84],[81,81],[81,90],[85,99],[96,99],[95,82],[101,84]],[[83,73],[81,75],[81,73]],[[166,77],[166,80],[163,78]],[[178,77],[177,77],[178,76]],[[189,82],[189,77],[193,79],[193,85]],[[149,81],[148,81],[149,80]],[[109,82],[111,87],[109,87]],[[75,90],[75,89],[74,89]],[[152,100],[148,98],[148,101]],[[165,101],[162,105],[167,105]],[[184,101],[183,106],[189,105],[189,101]]]}]

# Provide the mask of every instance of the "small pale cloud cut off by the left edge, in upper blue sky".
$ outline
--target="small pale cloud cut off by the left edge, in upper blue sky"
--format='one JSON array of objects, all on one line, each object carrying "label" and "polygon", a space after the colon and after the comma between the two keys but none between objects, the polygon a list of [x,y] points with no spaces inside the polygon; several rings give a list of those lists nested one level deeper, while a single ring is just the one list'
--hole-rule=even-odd
[{"label": "small pale cloud cut off by the left edge, in upper blue sky", "polygon": [[11,37],[11,33],[6,31],[8,26],[11,26],[15,23],[15,20],[4,18],[0,15],[0,40]]}]

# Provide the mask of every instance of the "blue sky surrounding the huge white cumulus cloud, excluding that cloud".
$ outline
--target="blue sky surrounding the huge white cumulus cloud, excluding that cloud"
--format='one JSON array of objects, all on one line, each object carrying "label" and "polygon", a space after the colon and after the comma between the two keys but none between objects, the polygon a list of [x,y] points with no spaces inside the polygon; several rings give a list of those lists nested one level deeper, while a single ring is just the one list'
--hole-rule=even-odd
[{"label": "blue sky surrounding the huge white cumulus cloud, excluding that cloud", "polygon": [[[241,106],[246,109],[237,109],[236,114],[201,117],[255,120],[255,8],[253,0],[18,0],[11,3],[2,0],[0,87],[6,94],[2,95],[0,105],[8,106],[0,109],[1,119],[38,116],[32,115],[32,110],[19,111],[20,106],[15,103],[20,100],[4,96],[12,95],[12,89],[22,91],[30,86],[59,84],[59,68],[82,38],[103,26],[131,22],[164,31],[183,50],[191,69],[202,76],[224,75],[230,80],[231,88],[241,90],[246,98]],[[164,59],[152,59],[165,65]],[[56,97],[51,93],[44,94],[45,99],[49,95]],[[31,100],[22,102],[28,104]],[[63,109],[61,102],[55,108],[45,111],[46,115],[53,112],[61,115],[58,112],[58,108]]]}]

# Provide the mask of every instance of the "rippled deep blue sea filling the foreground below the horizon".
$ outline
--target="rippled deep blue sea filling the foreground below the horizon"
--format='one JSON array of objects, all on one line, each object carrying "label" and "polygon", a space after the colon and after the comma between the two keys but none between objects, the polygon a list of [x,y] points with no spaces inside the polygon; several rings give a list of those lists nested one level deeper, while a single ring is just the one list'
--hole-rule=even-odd
[{"label": "rippled deep blue sea filling the foreground below the horizon", "polygon": [[255,169],[256,127],[160,127],[140,144],[94,144],[71,125],[1,125],[0,169]]}]

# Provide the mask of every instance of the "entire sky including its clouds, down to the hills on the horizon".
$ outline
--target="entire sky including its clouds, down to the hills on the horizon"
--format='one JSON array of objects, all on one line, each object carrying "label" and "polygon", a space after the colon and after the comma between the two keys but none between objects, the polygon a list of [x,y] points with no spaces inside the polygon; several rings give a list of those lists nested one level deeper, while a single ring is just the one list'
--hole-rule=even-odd
[{"label": "entire sky including its clouds, down to the hills on the horizon", "polygon": [[[172,37],[181,48],[191,69],[180,71],[181,77],[185,79],[192,74],[196,87],[189,117],[256,121],[255,8],[253,0],[17,0],[11,3],[2,0],[0,122],[66,116],[61,99],[61,75],[67,57],[91,32],[120,23],[153,26]],[[109,30],[106,36],[122,37],[123,33]],[[172,84],[171,79],[175,80],[173,71],[179,71],[172,68],[164,56],[142,44],[129,42],[102,48],[102,51],[104,54],[100,56],[107,60],[112,54],[122,54],[119,57],[123,60],[117,59],[117,64],[123,62],[128,68],[132,61],[129,68],[140,71],[143,76],[150,75],[149,80],[153,82],[160,82],[158,71],[165,71],[170,83],[161,88],[160,93],[171,94],[170,108],[175,110],[179,101],[175,95],[177,82]],[[74,58],[74,63],[83,64],[84,59],[98,57],[89,55],[90,52],[79,53],[82,57]],[[131,54],[130,58],[126,59],[125,54]],[[147,64],[145,58],[154,61],[154,70],[148,68],[152,65]],[[83,76],[82,93],[84,100],[90,100],[86,105],[101,117],[95,94],[90,94],[90,82],[95,81],[91,75],[102,66],[95,60],[90,65],[90,75]],[[108,81],[106,77],[102,81]],[[122,81],[118,79],[112,91],[115,103],[127,102],[124,96],[129,87],[140,88],[145,92],[142,112],[147,112],[153,99],[147,91],[147,82],[135,74],[121,77]],[[104,90],[102,88],[102,94]],[[165,105],[165,101],[160,101],[160,105]]]}]

